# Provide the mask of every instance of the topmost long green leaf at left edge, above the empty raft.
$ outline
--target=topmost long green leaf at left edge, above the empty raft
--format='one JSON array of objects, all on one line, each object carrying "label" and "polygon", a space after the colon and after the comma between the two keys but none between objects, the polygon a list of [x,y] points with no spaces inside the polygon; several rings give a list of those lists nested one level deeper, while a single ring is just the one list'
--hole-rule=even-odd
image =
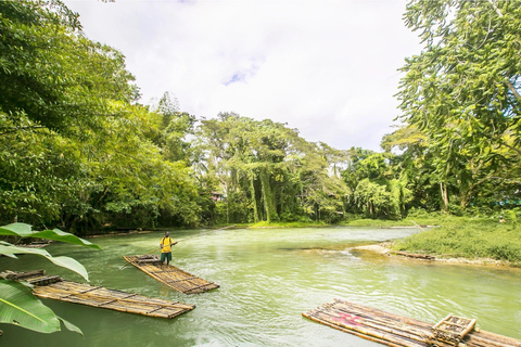
[{"label": "topmost long green leaf at left edge, above the empty raft", "polygon": [[101,249],[101,247],[98,246],[97,244],[90,243],[87,240],[80,239],[68,232],[61,231],[60,229],[33,231],[33,227],[26,223],[12,223],[12,224],[0,227],[0,235],[38,237],[38,239],[66,242],[75,245],[81,245],[86,247]]}]

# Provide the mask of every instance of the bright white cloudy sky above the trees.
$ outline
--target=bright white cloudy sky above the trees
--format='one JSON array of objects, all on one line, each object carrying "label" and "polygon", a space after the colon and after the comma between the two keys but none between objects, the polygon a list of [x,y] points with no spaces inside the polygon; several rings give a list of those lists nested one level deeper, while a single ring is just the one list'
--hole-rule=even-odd
[{"label": "bright white cloudy sky above the trees", "polygon": [[339,150],[381,151],[399,115],[397,69],[419,54],[406,0],[65,0],[85,35],[126,56],[149,104],[166,91],[298,129]]}]

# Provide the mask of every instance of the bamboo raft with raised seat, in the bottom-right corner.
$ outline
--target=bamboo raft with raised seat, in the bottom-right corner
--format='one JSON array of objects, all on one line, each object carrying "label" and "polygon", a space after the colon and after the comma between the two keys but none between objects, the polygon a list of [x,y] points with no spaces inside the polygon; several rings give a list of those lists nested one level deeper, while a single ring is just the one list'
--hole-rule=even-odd
[{"label": "bamboo raft with raised seat, in the bottom-right corner", "polygon": [[392,347],[521,347],[521,340],[481,331],[475,319],[448,314],[432,325],[379,309],[334,299],[304,317]]}]

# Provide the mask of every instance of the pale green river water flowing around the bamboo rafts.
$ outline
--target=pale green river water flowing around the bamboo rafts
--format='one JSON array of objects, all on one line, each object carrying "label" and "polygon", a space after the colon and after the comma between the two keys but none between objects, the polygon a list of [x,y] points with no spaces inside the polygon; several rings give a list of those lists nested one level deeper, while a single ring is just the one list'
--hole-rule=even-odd
[{"label": "pale green river water flowing around the bamboo rafts", "polygon": [[[179,230],[174,265],[218,283],[212,292],[185,295],[125,264],[144,254],[162,232],[91,239],[103,250],[53,244],[53,256],[79,260],[92,285],[193,304],[175,319],[43,301],[78,325],[39,334],[0,324],[0,346],[381,346],[315,323],[302,312],[333,298],[435,323],[448,313],[478,319],[486,331],[521,338],[521,269],[448,265],[351,249],[405,237],[415,229],[303,228]],[[195,236],[193,236],[195,235]],[[46,269],[67,280],[75,273],[34,256],[0,259],[0,270]]]}]

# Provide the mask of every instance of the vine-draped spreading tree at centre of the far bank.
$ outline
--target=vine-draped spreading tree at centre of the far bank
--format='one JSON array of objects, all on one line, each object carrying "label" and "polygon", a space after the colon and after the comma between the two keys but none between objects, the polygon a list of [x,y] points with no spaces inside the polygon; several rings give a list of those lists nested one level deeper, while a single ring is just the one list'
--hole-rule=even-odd
[{"label": "vine-draped spreading tree at centre of the far bank", "polygon": [[207,146],[208,175],[217,178],[212,189],[224,189],[228,196],[228,220],[237,211],[234,205],[249,206],[241,221],[254,222],[320,219],[321,213],[331,219],[343,213],[345,187],[331,174],[340,151],[308,143],[283,124],[237,114],[203,120],[201,137]]}]

